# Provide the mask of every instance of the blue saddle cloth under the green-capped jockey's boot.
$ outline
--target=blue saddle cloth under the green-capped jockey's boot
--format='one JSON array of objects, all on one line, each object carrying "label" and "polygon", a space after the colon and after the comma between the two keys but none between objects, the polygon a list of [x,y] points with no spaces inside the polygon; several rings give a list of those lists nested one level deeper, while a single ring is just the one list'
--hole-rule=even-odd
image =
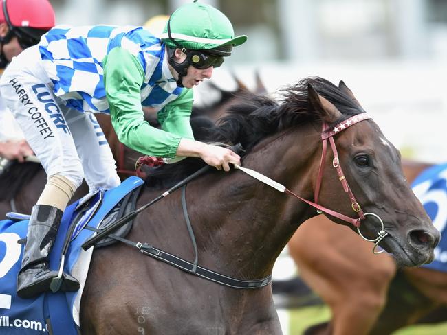
[{"label": "blue saddle cloth under the green-capped jockey's boot", "polygon": [[[98,227],[101,220],[115,207],[124,196],[144,183],[138,177],[127,178],[122,184],[107,192],[102,192],[102,203],[93,214],[87,211],[87,219],[80,220],[80,225]],[[100,198],[91,201],[94,207]],[[61,227],[52,253],[50,255],[50,268],[58,270],[61,252],[69,224],[76,216],[76,206],[73,203],[65,209]],[[87,270],[93,253],[93,248],[84,251],[81,248],[93,231],[77,228],[74,232],[69,251],[65,259],[65,271],[72,273],[80,281],[81,289],[78,292],[57,292],[41,294],[35,299],[21,299],[16,295],[16,278],[21,267],[21,254],[23,246],[17,241],[26,237],[28,220],[14,222],[12,220],[0,221],[0,334],[50,334],[78,335],[79,316],[78,305],[82,295]]]}]

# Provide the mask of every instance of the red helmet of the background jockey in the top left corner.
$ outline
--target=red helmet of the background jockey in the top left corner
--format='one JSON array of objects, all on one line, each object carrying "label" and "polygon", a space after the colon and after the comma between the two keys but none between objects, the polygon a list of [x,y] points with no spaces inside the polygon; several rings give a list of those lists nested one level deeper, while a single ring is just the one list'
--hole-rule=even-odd
[{"label": "red helmet of the background jockey in the top left corner", "polygon": [[[54,27],[54,10],[48,0],[1,0],[0,23],[12,27],[50,30]],[[5,14],[6,8],[6,14]]]}]

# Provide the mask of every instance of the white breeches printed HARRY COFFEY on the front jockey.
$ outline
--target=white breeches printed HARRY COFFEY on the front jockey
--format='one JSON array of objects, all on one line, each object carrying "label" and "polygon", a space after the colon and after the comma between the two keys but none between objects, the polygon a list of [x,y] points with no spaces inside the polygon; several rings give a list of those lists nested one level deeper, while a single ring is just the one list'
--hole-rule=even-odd
[{"label": "white breeches printed HARRY COFFEY on the front jockey", "polygon": [[53,93],[38,47],[12,59],[0,79],[1,96],[47,176],[60,175],[90,190],[120,184],[111,150],[93,113],[67,108]]}]

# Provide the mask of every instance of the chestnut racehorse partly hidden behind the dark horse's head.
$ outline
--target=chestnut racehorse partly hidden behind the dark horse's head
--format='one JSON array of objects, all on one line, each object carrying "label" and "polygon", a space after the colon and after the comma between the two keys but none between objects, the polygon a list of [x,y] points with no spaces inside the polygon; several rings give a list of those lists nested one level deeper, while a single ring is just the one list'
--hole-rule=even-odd
[{"label": "chestnut racehorse partly hidden behind the dark horse's head", "polygon": [[[402,167],[411,183],[430,165],[404,160]],[[373,255],[371,243],[324,216],[303,224],[288,247],[301,279],[331,308],[331,321],[314,325],[305,334],[391,334],[430,312],[445,311],[447,273],[428,268],[397,270],[392,257]],[[446,320],[445,313],[433,319]]]}]

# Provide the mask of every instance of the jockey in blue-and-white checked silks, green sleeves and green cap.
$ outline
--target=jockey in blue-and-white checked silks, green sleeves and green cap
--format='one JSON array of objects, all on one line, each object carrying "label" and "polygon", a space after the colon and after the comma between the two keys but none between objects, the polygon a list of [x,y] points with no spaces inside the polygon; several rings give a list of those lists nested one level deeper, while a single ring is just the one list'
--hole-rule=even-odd
[{"label": "jockey in blue-and-white checked silks, green sleeves and green cap", "polygon": [[[19,297],[47,291],[58,275],[48,255],[83,178],[91,190],[120,183],[94,113],[109,113],[120,141],[143,154],[200,157],[225,171],[239,164],[235,152],[195,141],[189,118],[193,86],[246,38],[234,36],[219,10],[194,2],[178,8],[157,37],[143,27],[56,26],[12,60],[1,94],[48,176],[32,209]],[[142,106],[157,109],[161,129],[144,121]],[[61,290],[78,288],[64,273]]]}]

